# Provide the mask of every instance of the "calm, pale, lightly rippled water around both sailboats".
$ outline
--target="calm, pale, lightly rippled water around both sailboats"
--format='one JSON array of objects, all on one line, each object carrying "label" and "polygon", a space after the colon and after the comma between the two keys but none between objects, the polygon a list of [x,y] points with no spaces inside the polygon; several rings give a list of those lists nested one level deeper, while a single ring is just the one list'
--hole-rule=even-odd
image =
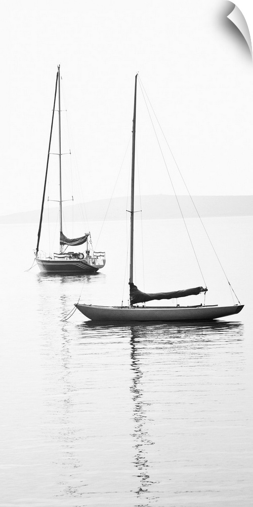
[{"label": "calm, pale, lightly rippled water around both sailboats", "polygon": [[[77,311],[62,321],[80,294],[121,303],[124,226],[105,226],[104,270],[76,278],[25,272],[36,225],[1,226],[9,241],[1,252],[1,507],[251,507],[252,222],[206,222],[245,308],[205,325],[96,325]],[[100,225],[92,224],[93,237]],[[184,245],[174,251],[177,234],[173,243],[164,234],[178,228],[144,224],[152,231],[147,291],[195,279]],[[219,269],[200,246],[219,300]]]}]

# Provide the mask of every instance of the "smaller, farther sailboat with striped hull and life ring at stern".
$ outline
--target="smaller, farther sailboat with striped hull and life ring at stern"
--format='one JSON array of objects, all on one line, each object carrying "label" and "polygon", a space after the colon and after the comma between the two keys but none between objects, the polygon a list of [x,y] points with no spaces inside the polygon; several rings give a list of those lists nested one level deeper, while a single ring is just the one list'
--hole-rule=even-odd
[{"label": "smaller, farther sailboat with striped hull and life ring at stern", "polygon": [[[47,255],[43,251],[39,251],[39,241],[41,235],[41,226],[43,222],[43,212],[44,212],[44,204],[45,204],[45,195],[46,195],[46,187],[47,187],[47,179],[48,179],[48,168],[49,168],[49,159],[50,159],[50,149],[51,149],[51,140],[52,140],[52,132],[54,125],[54,117],[55,117],[55,107],[56,107],[56,99],[58,94],[58,127],[59,127],[59,136],[58,136],[58,147],[59,147],[59,251],[54,252],[52,254]],[[91,233],[87,232],[83,236],[78,238],[68,238],[62,231],[63,228],[63,220],[62,220],[62,151],[61,151],[61,92],[60,92],[60,65],[58,65],[57,76],[56,76],[56,85],[55,85],[55,94],[54,94],[54,106],[53,106],[53,115],[51,122],[51,131],[50,131],[50,139],[49,139],[49,149],[48,149],[48,158],[47,158],[47,167],[46,167],[46,175],[45,175],[45,183],[44,183],[44,191],[43,191],[43,199],[41,204],[40,211],[40,220],[39,220],[39,228],[37,235],[37,245],[35,249],[35,260],[41,272],[51,273],[51,274],[87,274],[87,273],[96,273],[99,269],[103,268],[105,265],[105,252],[95,252],[93,250],[92,241],[91,241]],[[82,244],[86,244],[86,250],[83,251],[67,251],[68,247],[76,247]]]}]

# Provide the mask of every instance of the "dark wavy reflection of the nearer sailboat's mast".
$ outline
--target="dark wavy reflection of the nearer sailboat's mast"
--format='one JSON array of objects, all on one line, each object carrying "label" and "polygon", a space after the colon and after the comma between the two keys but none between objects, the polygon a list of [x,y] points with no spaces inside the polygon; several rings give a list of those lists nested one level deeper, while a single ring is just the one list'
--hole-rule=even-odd
[{"label": "dark wavy reflection of the nearer sailboat's mast", "polygon": [[[134,448],[136,450],[136,454],[134,457],[134,464],[136,468],[138,469],[138,476],[140,478],[140,486],[138,490],[136,491],[138,499],[140,499],[140,496],[144,493],[148,494],[150,496],[150,493],[148,492],[148,486],[153,484],[152,481],[150,481],[149,477],[149,464],[148,464],[148,450],[147,446],[153,445],[154,442],[152,442],[149,439],[148,431],[145,430],[145,425],[147,421],[149,420],[145,411],[145,408],[150,405],[149,403],[145,402],[143,400],[143,393],[142,393],[142,378],[143,378],[143,372],[140,368],[140,361],[138,359],[138,354],[136,350],[136,328],[131,328],[131,369],[133,371],[133,377],[132,377],[132,386],[130,387],[130,390],[132,392],[133,401],[134,401]],[[150,499],[150,498],[149,498]],[[147,498],[147,501],[149,500]],[[142,507],[144,507],[143,498],[141,499]],[[148,505],[148,503],[146,504]]]}]

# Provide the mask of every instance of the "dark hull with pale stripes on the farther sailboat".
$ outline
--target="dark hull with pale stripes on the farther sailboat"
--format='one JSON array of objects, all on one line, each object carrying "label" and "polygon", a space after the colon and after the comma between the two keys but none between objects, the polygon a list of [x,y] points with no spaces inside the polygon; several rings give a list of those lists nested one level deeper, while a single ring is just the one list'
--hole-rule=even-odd
[{"label": "dark hull with pale stripes on the farther sailboat", "polygon": [[59,259],[36,259],[37,265],[42,273],[65,274],[78,273],[90,274],[96,273],[103,268],[103,264],[92,265],[85,260],[59,260]]}]

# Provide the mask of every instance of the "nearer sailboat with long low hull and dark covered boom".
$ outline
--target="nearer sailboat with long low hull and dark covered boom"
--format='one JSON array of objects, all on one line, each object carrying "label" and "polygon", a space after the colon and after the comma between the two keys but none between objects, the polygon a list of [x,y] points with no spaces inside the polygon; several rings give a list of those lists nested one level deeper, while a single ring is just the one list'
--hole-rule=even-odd
[{"label": "nearer sailboat with long low hull and dark covered boom", "polygon": [[[144,293],[134,284],[134,191],[135,191],[135,136],[136,136],[136,98],[137,77],[135,77],[134,117],[132,133],[132,175],[131,175],[131,210],[130,210],[130,304],[129,306],[95,306],[76,303],[75,307],[91,320],[99,321],[205,321],[227,317],[239,313],[243,305],[232,306],[205,305],[195,306],[145,306],[148,301],[170,300],[206,293],[207,287],[197,286],[182,291],[164,293]],[[141,306],[138,306],[139,304]]]}]

